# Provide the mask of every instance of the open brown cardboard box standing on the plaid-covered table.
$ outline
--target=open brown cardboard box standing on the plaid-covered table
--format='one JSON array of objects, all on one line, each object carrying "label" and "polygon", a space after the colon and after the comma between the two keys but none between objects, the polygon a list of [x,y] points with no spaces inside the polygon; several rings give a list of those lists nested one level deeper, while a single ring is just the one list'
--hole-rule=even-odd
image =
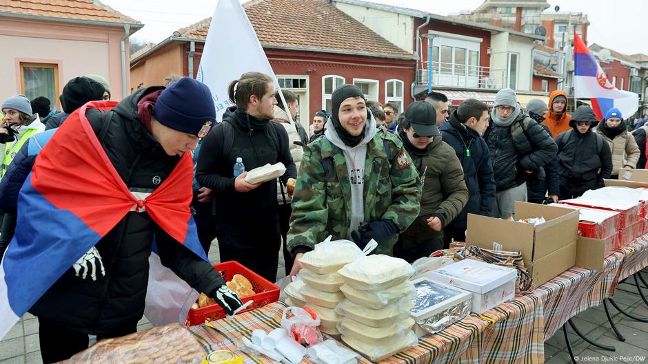
[{"label": "open brown cardboard box standing on the plaid-covered table", "polygon": [[[466,243],[492,249],[493,242],[498,242],[503,250],[519,251],[525,261],[536,261],[576,242],[578,238],[579,215],[576,210],[516,202],[515,211],[516,220],[544,217],[547,222],[534,226],[468,214]],[[573,266],[574,261],[571,263]]]}]

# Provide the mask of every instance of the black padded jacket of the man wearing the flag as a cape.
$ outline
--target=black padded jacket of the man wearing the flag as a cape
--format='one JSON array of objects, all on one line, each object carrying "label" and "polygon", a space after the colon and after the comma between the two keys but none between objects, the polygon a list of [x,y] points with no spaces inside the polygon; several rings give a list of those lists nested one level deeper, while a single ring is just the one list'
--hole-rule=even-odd
[{"label": "black padded jacket of the man wearing the flag as a cape", "polygon": [[[137,115],[137,102],[161,88],[141,89],[108,111],[112,116],[101,146],[131,191],[154,191],[180,160],[179,156],[168,156],[163,151]],[[86,116],[99,135],[103,111],[90,109]],[[156,184],[154,180],[161,182]],[[96,245],[103,259],[105,277],[97,281],[81,279],[70,269],[30,312],[66,328],[92,334],[134,325],[144,312],[148,257],[154,237],[164,266],[190,286],[215,295],[224,283],[219,272],[165,233],[148,213],[130,212]]]}]

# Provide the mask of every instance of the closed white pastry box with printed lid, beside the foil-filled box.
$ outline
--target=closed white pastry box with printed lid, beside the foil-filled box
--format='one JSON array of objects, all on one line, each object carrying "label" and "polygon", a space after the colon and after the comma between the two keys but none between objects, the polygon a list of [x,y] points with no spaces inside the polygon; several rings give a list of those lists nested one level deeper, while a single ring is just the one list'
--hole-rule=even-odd
[{"label": "closed white pastry box with printed lid, beside the foil-filled box", "polygon": [[426,275],[433,281],[472,292],[472,311],[481,314],[515,297],[518,271],[515,268],[463,259],[427,272]]}]

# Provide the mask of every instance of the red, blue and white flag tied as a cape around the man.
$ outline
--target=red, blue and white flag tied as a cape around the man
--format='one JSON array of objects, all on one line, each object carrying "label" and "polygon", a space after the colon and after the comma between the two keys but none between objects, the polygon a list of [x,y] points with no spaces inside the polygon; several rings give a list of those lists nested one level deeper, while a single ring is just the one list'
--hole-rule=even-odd
[{"label": "red, blue and white flag tied as a cape around the man", "polygon": [[[128,190],[85,118],[86,109],[110,110],[116,104],[97,101],[74,111],[45,144],[23,184],[16,233],[0,265],[0,339],[129,211],[145,211],[171,237],[207,260],[189,206],[190,153],[153,193],[139,199]],[[168,272],[162,270],[159,276]],[[182,288],[184,296],[175,297],[177,301],[188,299],[190,287],[184,283]]]}]

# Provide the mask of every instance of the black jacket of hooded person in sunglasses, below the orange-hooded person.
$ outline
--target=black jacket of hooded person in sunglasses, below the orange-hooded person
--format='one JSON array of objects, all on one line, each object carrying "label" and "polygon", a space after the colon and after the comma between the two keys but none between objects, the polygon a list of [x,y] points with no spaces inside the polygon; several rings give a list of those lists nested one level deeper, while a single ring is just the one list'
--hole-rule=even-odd
[{"label": "black jacket of hooded person in sunglasses, below the orange-hooded person", "polygon": [[585,134],[575,129],[567,130],[558,134],[556,144],[563,188],[587,184],[589,189],[597,189],[603,187],[604,178],[610,178],[612,154],[609,145],[591,129]]}]

